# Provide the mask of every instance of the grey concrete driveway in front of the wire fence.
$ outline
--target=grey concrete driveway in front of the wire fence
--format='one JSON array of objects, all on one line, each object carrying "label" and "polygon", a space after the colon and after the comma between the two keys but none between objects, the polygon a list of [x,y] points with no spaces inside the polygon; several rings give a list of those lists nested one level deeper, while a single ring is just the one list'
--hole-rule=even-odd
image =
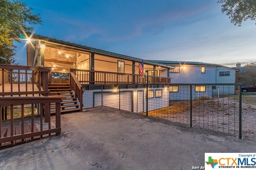
[{"label": "grey concrete driveway in front of the wire fence", "polygon": [[1,169],[192,170],[206,152],[256,150],[255,140],[106,106],[61,121],[61,136],[0,150]]}]

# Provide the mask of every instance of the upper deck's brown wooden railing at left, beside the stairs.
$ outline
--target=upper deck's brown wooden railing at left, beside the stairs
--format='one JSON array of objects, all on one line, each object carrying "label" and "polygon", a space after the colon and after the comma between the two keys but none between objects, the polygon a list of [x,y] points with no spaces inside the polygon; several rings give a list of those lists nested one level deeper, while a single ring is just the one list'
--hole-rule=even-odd
[{"label": "upper deck's brown wooden railing at left, beside the stairs", "polygon": [[[48,96],[50,93],[50,68],[0,64],[0,70],[0,96]],[[2,107],[1,111],[6,112],[6,108]],[[48,105],[44,111],[47,115]],[[48,121],[47,117],[45,120]]]}]

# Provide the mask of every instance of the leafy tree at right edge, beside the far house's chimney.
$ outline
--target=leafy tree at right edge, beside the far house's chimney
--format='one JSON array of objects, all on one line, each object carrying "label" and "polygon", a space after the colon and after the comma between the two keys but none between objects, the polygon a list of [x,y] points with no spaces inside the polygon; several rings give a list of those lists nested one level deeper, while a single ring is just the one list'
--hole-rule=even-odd
[{"label": "leafy tree at right edge, beside the far house's chimney", "polygon": [[241,81],[244,86],[256,86],[256,63],[250,63],[243,66]]}]

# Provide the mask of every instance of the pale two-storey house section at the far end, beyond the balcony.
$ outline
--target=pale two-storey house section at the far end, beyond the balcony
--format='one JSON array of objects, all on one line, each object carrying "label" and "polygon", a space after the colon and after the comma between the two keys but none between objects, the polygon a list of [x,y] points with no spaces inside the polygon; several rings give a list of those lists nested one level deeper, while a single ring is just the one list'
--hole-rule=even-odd
[{"label": "pale two-storey house section at the far end, beyond the balcony", "polygon": [[236,70],[233,68],[191,61],[150,61],[175,66],[175,69],[170,70],[173,84],[169,87],[170,100],[187,100],[190,97],[189,85],[181,84],[196,84],[192,86],[193,98],[212,97],[216,94],[234,94],[235,92],[234,86],[215,85],[216,83],[235,83]]}]

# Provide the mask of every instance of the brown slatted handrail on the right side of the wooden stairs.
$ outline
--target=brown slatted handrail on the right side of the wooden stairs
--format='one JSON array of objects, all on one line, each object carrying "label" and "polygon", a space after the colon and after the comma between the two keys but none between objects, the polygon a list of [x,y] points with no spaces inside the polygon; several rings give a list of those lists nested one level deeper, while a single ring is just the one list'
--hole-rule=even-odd
[{"label": "brown slatted handrail on the right side of the wooden stairs", "polygon": [[75,97],[78,98],[80,103],[80,111],[83,110],[83,87],[80,84],[79,80],[77,79],[74,72],[70,72],[70,88],[74,90]]}]

